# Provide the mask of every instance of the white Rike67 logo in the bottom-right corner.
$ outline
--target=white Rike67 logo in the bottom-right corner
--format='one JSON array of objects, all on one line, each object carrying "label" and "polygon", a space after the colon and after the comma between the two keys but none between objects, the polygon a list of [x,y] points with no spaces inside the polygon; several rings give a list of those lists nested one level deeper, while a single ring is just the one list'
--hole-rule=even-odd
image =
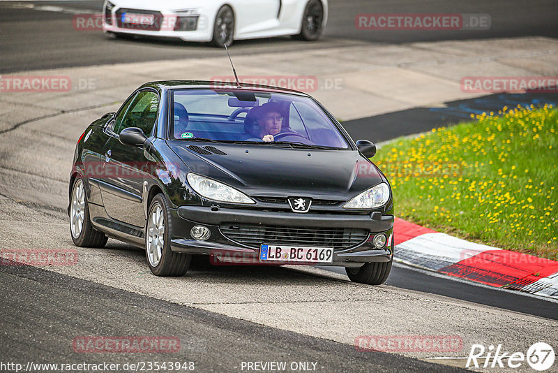
[{"label": "white Rike67 logo in the bottom-right corner", "polygon": [[488,349],[482,344],[473,344],[465,367],[515,369],[527,362],[531,368],[542,372],[554,365],[555,357],[554,349],[545,342],[532,344],[527,353],[504,351],[502,344],[498,344],[496,347],[491,344]]}]

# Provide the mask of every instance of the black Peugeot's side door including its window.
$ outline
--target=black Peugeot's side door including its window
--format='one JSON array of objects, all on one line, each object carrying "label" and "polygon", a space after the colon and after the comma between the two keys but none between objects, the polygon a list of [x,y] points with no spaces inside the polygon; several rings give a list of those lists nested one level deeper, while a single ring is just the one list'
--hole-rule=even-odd
[{"label": "black Peugeot's side door including its window", "polygon": [[116,115],[110,139],[103,149],[103,180],[99,186],[107,214],[115,220],[143,228],[144,181],[151,160],[141,147],[123,145],[119,134],[123,129],[139,127],[151,136],[158,113],[159,97],[151,89],[137,92],[129,105]]}]

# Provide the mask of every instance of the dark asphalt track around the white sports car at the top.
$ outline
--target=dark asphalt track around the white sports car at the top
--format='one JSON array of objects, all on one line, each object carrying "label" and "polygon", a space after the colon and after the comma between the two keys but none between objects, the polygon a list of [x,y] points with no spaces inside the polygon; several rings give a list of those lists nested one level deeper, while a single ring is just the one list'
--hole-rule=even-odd
[{"label": "dark asphalt track around the white sports car at the top", "polygon": [[[0,1],[0,73],[68,66],[117,64],[218,57],[222,50],[200,43],[174,40],[112,40],[100,31],[73,29],[72,14],[13,8],[13,1]],[[103,1],[29,1],[39,6],[61,6],[77,12],[98,13]],[[558,7],[553,0],[511,1],[368,1],[330,0],[329,23],[321,41],[306,43],[290,38],[239,41],[235,54],[327,48],[339,39],[370,43],[411,43],[416,41],[467,40],[514,36],[558,37]],[[355,27],[361,13],[474,13],[488,14],[488,30],[366,31]],[[262,61],[265,63],[265,61]]]}]

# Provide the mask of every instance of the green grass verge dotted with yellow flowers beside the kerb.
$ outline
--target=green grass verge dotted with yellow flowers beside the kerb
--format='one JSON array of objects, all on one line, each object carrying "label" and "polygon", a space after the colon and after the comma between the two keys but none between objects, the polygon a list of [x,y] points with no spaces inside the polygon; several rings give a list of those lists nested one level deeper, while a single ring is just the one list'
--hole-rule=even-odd
[{"label": "green grass verge dotted with yellow flowers beside the kerb", "polygon": [[384,145],[399,217],[558,260],[558,110],[504,108]]}]

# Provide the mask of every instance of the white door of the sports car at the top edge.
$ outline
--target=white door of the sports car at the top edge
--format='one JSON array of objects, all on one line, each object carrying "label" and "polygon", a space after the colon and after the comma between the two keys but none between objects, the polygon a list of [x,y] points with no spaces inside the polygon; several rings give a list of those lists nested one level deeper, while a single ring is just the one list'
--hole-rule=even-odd
[{"label": "white door of the sports car at the top edge", "polygon": [[261,36],[265,31],[276,28],[281,0],[236,0],[236,37]]}]

